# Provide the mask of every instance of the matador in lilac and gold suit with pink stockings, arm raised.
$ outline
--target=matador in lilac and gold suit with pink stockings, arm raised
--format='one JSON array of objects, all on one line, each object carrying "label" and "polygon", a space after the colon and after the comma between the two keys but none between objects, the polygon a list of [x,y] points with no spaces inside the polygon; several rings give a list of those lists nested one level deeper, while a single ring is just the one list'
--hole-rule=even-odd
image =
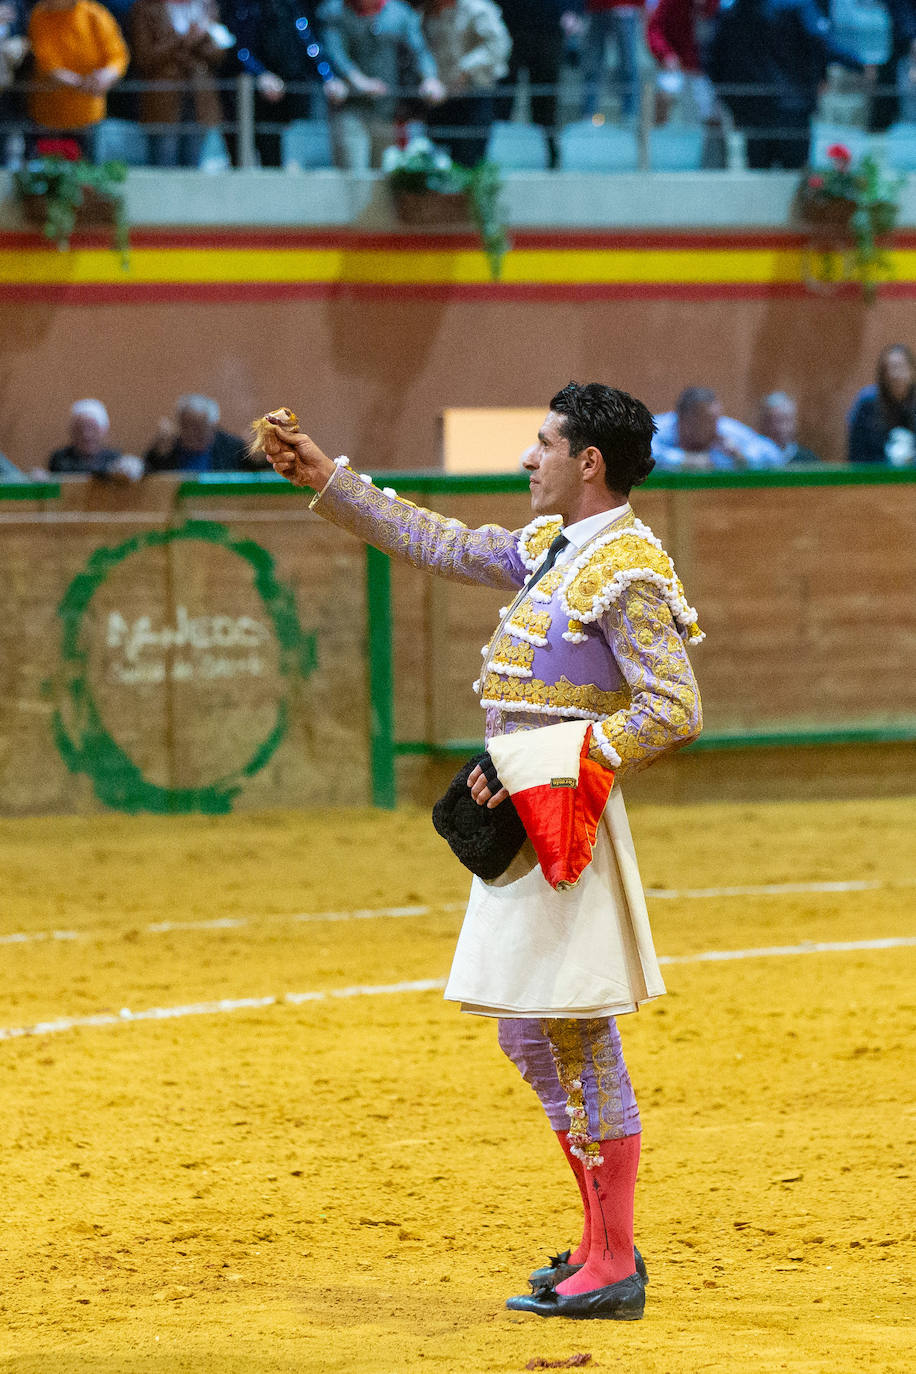
[{"label": "matador in lilac and gold suit with pink stockings, arm raised", "polygon": [[[548,881],[529,840],[499,878],[472,879],[445,996],[499,1018],[500,1046],[537,1092],[582,1201],[580,1243],[536,1270],[531,1292],[507,1307],[639,1320],[648,1282],[633,1245],[641,1125],[617,1017],[665,985],[619,783],[699,734],[687,646],[703,638],[672,559],[629,504],[652,469],[652,416],[600,383],[558,392],[522,459],[534,515],[522,530],[470,529],[380,489],[321,452],[290,412],[255,427],[275,469],[312,486],[325,519],[424,572],[507,592],[474,684],[492,758],[525,761],[571,734],[607,769],[612,785],[577,881]],[[492,767],[467,782],[488,808],[512,790]]]}]

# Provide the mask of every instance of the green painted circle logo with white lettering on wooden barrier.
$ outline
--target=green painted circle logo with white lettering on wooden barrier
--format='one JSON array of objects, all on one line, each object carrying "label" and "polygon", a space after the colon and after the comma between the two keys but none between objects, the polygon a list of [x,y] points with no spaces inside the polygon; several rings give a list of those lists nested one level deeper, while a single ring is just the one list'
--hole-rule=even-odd
[{"label": "green painted circle logo with white lettering on wooden barrier", "polygon": [[[165,611],[146,613],[151,599]],[[118,811],[231,811],[287,734],[293,682],[317,666],[272,555],[213,521],[95,550],[58,616],[55,743]]]}]

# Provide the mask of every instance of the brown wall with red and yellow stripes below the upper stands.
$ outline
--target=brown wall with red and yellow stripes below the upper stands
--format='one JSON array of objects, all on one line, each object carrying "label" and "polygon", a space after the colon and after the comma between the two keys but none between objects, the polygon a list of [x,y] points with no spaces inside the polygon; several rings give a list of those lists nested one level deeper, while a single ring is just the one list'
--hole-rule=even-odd
[{"label": "brown wall with red and yellow stripes below the upper stands", "polygon": [[203,390],[229,429],[290,403],[365,466],[423,467],[445,407],[537,407],[574,376],[656,411],[710,385],[747,420],[788,390],[806,442],[839,458],[879,349],[912,338],[916,234],[890,257],[867,305],[813,289],[790,234],[519,232],[500,282],[452,234],[137,231],[126,272],[99,235],[59,253],[4,234],[0,448],[40,462],[69,404],[99,396],[136,451],[174,396]]}]

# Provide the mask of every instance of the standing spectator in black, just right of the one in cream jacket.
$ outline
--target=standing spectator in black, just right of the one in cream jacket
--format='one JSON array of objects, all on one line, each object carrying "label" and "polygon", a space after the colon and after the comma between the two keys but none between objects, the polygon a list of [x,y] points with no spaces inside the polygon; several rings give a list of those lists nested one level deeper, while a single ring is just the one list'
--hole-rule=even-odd
[{"label": "standing spectator in black, just right of the one in cream jacket", "polygon": [[496,103],[497,120],[511,120],[515,87],[522,70],[527,71],[531,93],[531,120],[547,129],[551,164],[556,162],[556,84],[560,78],[566,33],[581,21],[575,0],[500,0],[505,27],[512,40],[505,93]]}]

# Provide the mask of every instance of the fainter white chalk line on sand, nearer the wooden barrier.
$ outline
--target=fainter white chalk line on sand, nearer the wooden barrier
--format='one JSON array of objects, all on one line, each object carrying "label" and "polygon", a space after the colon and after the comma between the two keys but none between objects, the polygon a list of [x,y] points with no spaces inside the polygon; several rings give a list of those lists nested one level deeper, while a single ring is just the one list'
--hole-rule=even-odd
[{"label": "fainter white chalk line on sand, nearer the wooden barrier", "polygon": [[[850,892],[893,892],[900,888],[915,888],[916,879],[884,882],[882,879],[853,879],[847,882],[761,882],[740,888],[647,888],[650,901],[692,901],[714,897],[787,897],[805,893],[850,893]],[[165,936],[179,930],[240,930],[261,925],[265,921],[291,922],[335,922],[335,921],[382,921],[405,916],[431,916],[441,912],[464,911],[464,901],[441,901],[413,907],[364,907],[356,911],[299,911],[291,915],[261,916],[217,916],[210,921],[155,921],[146,926],[148,936]],[[0,936],[4,944],[36,944],[44,940],[91,940],[100,932],[92,930],[19,930]]]}]

